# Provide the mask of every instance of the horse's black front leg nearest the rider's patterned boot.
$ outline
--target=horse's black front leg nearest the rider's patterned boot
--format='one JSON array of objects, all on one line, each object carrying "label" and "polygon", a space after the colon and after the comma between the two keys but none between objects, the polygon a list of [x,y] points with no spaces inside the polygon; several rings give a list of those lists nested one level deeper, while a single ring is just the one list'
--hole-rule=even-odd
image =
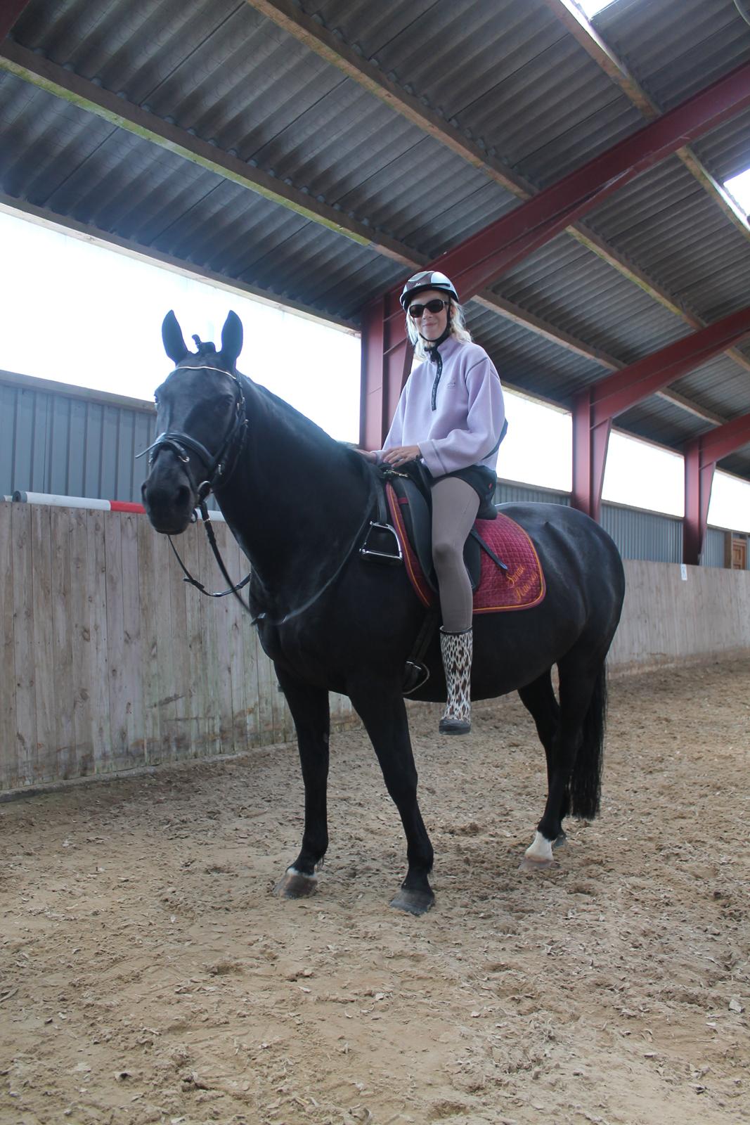
[{"label": "horse's black front leg nearest the rider's patterned boot", "polygon": [[400,684],[350,683],[349,696],[370,736],[386,788],[406,832],[409,866],[390,904],[408,914],[425,914],[435,902],[427,879],[432,871],[433,849],[417,803],[417,771]]}]

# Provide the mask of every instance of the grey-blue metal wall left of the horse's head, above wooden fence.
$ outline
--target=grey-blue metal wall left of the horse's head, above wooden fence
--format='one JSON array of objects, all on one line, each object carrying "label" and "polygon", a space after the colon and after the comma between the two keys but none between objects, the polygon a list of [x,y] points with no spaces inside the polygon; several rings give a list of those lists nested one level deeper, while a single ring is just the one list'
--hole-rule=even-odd
[{"label": "grey-blue metal wall left of the horse's head, above wooden fence", "polygon": [[0,371],[0,495],[139,501],[154,423],[148,403]]}]

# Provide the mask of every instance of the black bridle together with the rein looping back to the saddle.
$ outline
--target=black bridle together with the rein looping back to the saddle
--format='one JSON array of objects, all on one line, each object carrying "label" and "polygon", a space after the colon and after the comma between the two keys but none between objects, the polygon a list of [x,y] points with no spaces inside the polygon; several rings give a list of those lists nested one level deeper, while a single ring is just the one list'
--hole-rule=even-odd
[{"label": "black bridle together with the rein looping back to the saddle", "polygon": [[[228,434],[226,435],[226,438],[222,442],[222,446],[219,447],[219,451],[218,451],[218,453],[216,453],[216,456],[213,456],[206,449],[206,447],[201,444],[201,442],[196,441],[195,438],[191,438],[190,434],[183,433],[181,430],[165,430],[163,433],[161,433],[156,438],[156,440],[154,442],[152,442],[151,446],[146,447],[146,449],[142,450],[139,453],[136,454],[136,460],[137,460],[138,457],[143,457],[145,453],[150,453],[151,454],[148,457],[148,466],[150,467],[154,464],[154,461],[156,460],[156,454],[162,449],[169,449],[169,450],[171,450],[180,459],[180,461],[184,466],[186,476],[188,477],[188,479],[189,479],[189,482],[190,482],[190,484],[192,486],[192,489],[193,489],[193,492],[196,493],[196,495],[198,497],[198,506],[197,506],[196,511],[192,514],[192,522],[195,523],[197,521],[197,513],[198,513],[198,511],[200,511],[201,520],[202,520],[204,526],[206,528],[206,536],[208,538],[208,542],[210,544],[211,551],[214,552],[214,558],[216,559],[218,568],[222,572],[222,576],[224,577],[225,582],[227,582],[229,585],[228,585],[227,590],[223,590],[223,591],[219,591],[217,593],[210,593],[209,591],[207,591],[206,587],[204,586],[204,584],[200,583],[200,582],[198,582],[198,579],[193,578],[193,576],[190,574],[190,572],[188,570],[187,566],[184,565],[184,562],[180,558],[180,555],[178,552],[177,547],[172,542],[172,537],[168,536],[166,538],[170,541],[170,547],[172,548],[174,557],[177,558],[178,562],[180,564],[180,567],[181,567],[181,569],[183,572],[183,575],[184,575],[184,577],[183,577],[182,580],[190,583],[191,586],[195,586],[196,590],[200,591],[201,594],[205,594],[206,597],[226,597],[227,594],[234,594],[234,596],[237,598],[237,601],[242,605],[243,610],[245,610],[246,613],[250,613],[250,615],[251,615],[251,623],[254,624],[254,626],[257,624],[257,622],[261,621],[261,620],[263,620],[268,624],[271,624],[271,626],[274,626],[274,627],[275,626],[282,626],[287,621],[290,621],[292,618],[299,616],[300,613],[305,613],[306,610],[309,610],[313,605],[315,605],[315,603],[317,602],[317,600],[336,580],[336,578],[338,577],[338,575],[341,574],[341,572],[344,569],[344,566],[346,565],[346,562],[352,557],[352,555],[353,555],[353,552],[354,552],[354,550],[356,548],[356,544],[358,544],[358,542],[360,540],[360,537],[361,537],[362,532],[364,531],[364,529],[365,529],[365,526],[368,524],[369,518],[370,518],[370,511],[372,508],[373,498],[374,498],[376,492],[377,492],[377,489],[376,489],[376,483],[374,483],[374,477],[373,477],[372,474],[368,474],[370,487],[369,487],[368,500],[367,500],[367,505],[365,505],[365,510],[364,510],[364,519],[362,520],[362,523],[358,528],[356,534],[354,536],[354,539],[352,540],[350,547],[346,549],[346,552],[344,554],[343,559],[341,560],[341,562],[338,564],[338,566],[336,567],[336,569],[334,570],[334,573],[331,575],[331,577],[326,579],[326,582],[323,584],[323,586],[320,586],[320,588],[317,591],[317,593],[315,593],[311,597],[309,597],[302,605],[299,605],[296,610],[290,610],[289,613],[286,613],[282,618],[279,618],[275,621],[272,621],[272,620],[268,619],[266,615],[265,615],[265,612],[259,613],[255,616],[253,616],[253,611],[250,608],[250,604],[246,603],[245,601],[243,601],[243,598],[240,595],[240,591],[244,586],[246,586],[247,583],[250,582],[250,579],[252,577],[252,570],[249,572],[245,575],[245,577],[242,579],[242,582],[238,582],[236,585],[233,584],[232,578],[227,574],[227,569],[226,569],[226,567],[224,565],[224,560],[223,560],[222,555],[219,552],[218,543],[216,542],[216,536],[214,534],[214,528],[211,525],[211,518],[209,515],[208,507],[206,506],[206,501],[210,496],[210,494],[214,492],[215,487],[217,485],[225,486],[226,484],[228,484],[228,482],[229,482],[231,477],[233,476],[234,470],[235,470],[235,468],[237,466],[237,462],[240,460],[240,454],[242,452],[242,449],[243,449],[243,446],[244,446],[244,442],[245,442],[245,435],[247,433],[249,420],[247,420],[247,413],[246,413],[245,396],[244,396],[243,390],[242,390],[242,384],[240,382],[240,379],[238,379],[238,377],[237,377],[236,374],[233,374],[232,371],[226,371],[222,367],[209,367],[208,364],[205,364],[205,363],[201,363],[198,367],[192,367],[192,366],[191,367],[177,367],[177,368],[174,368],[174,371],[171,371],[170,374],[174,375],[178,371],[218,371],[220,375],[226,375],[229,379],[233,379],[235,381],[236,386],[237,386],[237,399],[236,399],[236,403],[235,403],[235,418],[234,418],[234,422],[233,422],[233,424],[232,424],[232,426],[229,429]],[[169,376],[168,376],[168,378],[169,378]],[[229,470],[227,472],[227,465],[226,465],[224,458],[228,459],[229,454],[232,453],[232,446],[235,442],[237,434],[240,434],[240,443],[238,443],[238,446],[236,448],[236,451],[234,452],[234,456],[232,457],[231,465],[229,465]],[[190,457],[186,452],[186,447],[188,449],[192,450],[192,452],[196,453],[200,458],[200,460],[204,462],[204,465],[208,467],[208,471],[206,474],[206,479],[202,480],[201,484],[199,484],[199,485],[196,484],[196,482],[193,479],[193,476],[192,476],[192,472],[190,471]],[[367,468],[364,460],[362,461],[362,467]]]}]

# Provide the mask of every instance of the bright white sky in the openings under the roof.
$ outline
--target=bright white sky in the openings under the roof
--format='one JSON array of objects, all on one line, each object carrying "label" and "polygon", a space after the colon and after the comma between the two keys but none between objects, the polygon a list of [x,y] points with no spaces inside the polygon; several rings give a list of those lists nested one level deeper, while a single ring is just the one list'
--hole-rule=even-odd
[{"label": "bright white sky in the openings under the roof", "polygon": [[[356,442],[360,340],[350,330],[137,260],[0,207],[0,368],[151,399],[172,368],[161,323],[173,308],[193,333],[220,341],[232,308],[245,345],[237,367],[332,436]],[[500,371],[500,376],[501,376]],[[506,393],[498,475],[569,492],[570,414]],[[684,514],[683,459],[613,432],[603,498]],[[716,472],[708,520],[750,532],[750,484]]]}]

